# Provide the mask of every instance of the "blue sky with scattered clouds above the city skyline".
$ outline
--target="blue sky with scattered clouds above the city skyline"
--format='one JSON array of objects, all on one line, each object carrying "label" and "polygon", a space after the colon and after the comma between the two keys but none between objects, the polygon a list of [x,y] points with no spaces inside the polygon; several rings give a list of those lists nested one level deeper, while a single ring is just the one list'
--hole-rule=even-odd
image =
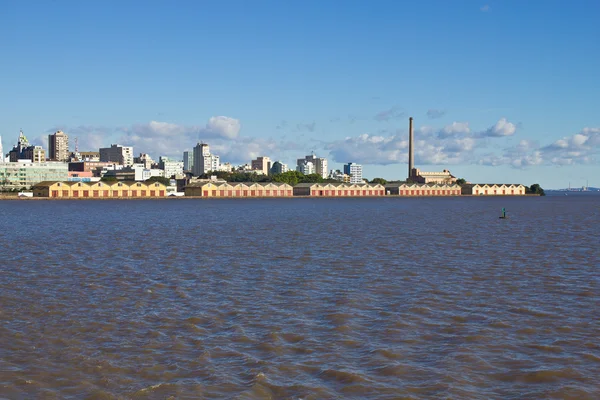
[{"label": "blue sky with scattered clouds above the city skyline", "polygon": [[598,1],[0,0],[0,136],[600,187]]}]

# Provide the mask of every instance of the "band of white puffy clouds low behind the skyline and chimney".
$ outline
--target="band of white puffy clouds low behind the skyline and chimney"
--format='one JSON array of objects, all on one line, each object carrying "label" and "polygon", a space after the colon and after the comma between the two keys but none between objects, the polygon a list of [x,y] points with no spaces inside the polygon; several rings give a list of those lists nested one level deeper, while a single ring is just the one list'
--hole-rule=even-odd
[{"label": "band of white puffy clouds low behind the skyline and chimney", "polygon": [[[429,110],[431,111],[431,110]],[[437,111],[437,110],[436,110]],[[428,112],[429,113],[429,112]],[[398,107],[376,114],[378,122],[401,118]],[[437,113],[432,113],[437,115]],[[378,118],[379,117],[379,118]],[[288,122],[281,125],[289,125]],[[294,131],[316,130],[316,122],[292,124]],[[133,146],[136,153],[181,157],[199,141],[210,144],[223,161],[250,162],[258,156],[286,159],[289,152],[297,157],[315,148],[324,150],[332,162],[356,162],[364,165],[392,165],[408,162],[408,134],[397,130],[383,135],[363,133],[341,140],[304,142],[241,136],[241,122],[232,117],[213,116],[204,125],[181,125],[150,121],[114,129],[107,127],[55,127],[79,137],[80,149],[108,146],[114,138],[123,145]],[[385,130],[383,132],[386,132]],[[466,121],[454,121],[442,127],[420,126],[415,130],[415,161],[418,165],[484,165],[523,169],[553,165],[594,164],[600,152],[600,128],[585,127],[551,144],[521,139],[517,145],[507,144],[507,138],[517,137],[517,124],[500,118],[487,129],[473,130]],[[114,143],[114,142],[112,142]]]}]

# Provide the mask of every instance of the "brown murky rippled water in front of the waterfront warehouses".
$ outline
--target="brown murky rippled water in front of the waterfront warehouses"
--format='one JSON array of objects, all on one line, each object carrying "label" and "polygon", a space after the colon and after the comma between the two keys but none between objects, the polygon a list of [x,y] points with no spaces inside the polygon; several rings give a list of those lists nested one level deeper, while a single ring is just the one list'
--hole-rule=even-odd
[{"label": "brown murky rippled water in front of the waterfront warehouses", "polygon": [[599,222],[600,196],[3,201],[0,398],[597,399]]}]

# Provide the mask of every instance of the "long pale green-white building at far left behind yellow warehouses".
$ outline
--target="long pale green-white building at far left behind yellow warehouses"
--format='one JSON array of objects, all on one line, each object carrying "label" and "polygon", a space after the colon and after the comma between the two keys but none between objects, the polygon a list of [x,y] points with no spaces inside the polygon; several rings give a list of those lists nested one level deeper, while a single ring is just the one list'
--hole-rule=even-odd
[{"label": "long pale green-white building at far left behind yellow warehouses", "polygon": [[0,163],[0,187],[4,189],[29,189],[43,181],[66,181],[68,177],[67,163],[31,160]]}]

